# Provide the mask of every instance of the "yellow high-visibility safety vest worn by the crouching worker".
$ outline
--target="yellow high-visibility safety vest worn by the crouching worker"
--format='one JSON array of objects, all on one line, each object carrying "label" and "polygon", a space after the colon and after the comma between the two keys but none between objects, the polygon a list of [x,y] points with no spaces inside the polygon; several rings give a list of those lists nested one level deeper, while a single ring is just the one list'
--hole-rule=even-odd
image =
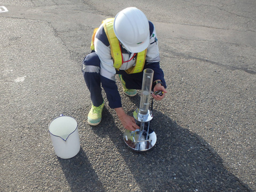
[{"label": "yellow high-visibility safety vest worn by the crouching worker", "polygon": [[[105,33],[110,44],[111,56],[114,60],[114,67],[119,70],[123,64],[123,57],[119,40],[114,33],[114,18],[109,18],[102,21]],[[92,35],[91,50],[94,50],[94,38],[99,28],[95,28]],[[146,60],[147,49],[137,54],[136,65],[130,69],[126,69],[127,74],[140,73],[143,70]]]}]

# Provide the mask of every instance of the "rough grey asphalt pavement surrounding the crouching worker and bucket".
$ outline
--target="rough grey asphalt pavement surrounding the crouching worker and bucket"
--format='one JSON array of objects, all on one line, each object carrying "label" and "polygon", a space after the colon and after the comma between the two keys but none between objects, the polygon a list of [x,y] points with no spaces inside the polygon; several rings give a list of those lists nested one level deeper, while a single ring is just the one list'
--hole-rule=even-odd
[{"label": "rough grey asphalt pavement surrounding the crouching worker and bucket", "polygon": [[[136,153],[114,109],[87,124],[82,60],[103,19],[141,9],[156,27],[167,95],[156,145]],[[256,191],[256,2],[3,0],[0,191]],[[140,91],[127,97],[127,114]],[[54,153],[49,123],[78,123],[81,150]]]}]

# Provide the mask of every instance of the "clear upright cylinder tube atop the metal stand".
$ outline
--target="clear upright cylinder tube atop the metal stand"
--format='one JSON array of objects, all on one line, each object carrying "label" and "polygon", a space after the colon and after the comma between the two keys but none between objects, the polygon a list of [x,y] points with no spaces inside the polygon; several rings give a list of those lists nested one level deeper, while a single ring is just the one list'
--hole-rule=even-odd
[{"label": "clear upright cylinder tube atop the metal stand", "polygon": [[154,76],[154,70],[152,70],[152,69],[144,69],[143,70],[140,108],[139,108],[139,114],[141,114],[141,115],[148,114],[153,76]]}]

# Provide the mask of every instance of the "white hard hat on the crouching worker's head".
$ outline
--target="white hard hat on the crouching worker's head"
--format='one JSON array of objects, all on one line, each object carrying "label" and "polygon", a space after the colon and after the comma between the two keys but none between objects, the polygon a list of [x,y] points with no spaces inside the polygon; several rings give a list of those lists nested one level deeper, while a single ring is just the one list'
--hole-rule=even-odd
[{"label": "white hard hat on the crouching worker's head", "polygon": [[114,32],[125,49],[138,53],[149,45],[149,23],[146,15],[136,7],[128,7],[117,13]]}]

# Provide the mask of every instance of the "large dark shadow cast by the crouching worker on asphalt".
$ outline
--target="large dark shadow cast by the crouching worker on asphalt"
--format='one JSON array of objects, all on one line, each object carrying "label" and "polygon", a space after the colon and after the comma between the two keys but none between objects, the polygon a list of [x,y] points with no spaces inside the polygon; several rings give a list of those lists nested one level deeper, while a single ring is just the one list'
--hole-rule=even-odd
[{"label": "large dark shadow cast by the crouching worker on asphalt", "polygon": [[93,129],[99,137],[111,139],[142,191],[251,191],[223,166],[221,157],[199,135],[157,110],[153,115],[150,128],[156,132],[157,142],[145,153],[126,146],[124,129],[118,129],[119,120],[108,110],[102,114],[104,129]]}]

